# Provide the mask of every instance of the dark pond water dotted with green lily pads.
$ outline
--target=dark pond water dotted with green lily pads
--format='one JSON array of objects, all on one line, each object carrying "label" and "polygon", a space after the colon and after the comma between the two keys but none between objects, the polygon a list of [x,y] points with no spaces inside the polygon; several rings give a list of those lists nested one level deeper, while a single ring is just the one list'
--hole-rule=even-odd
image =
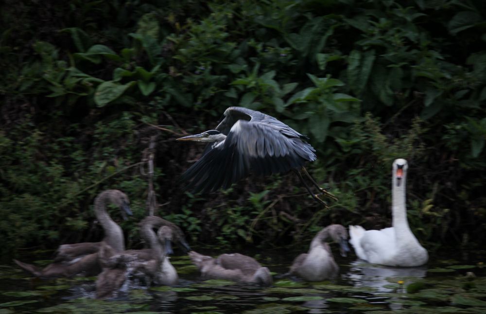
[{"label": "dark pond water dotted with green lily pads", "polygon": [[[221,252],[201,253],[215,256]],[[0,265],[0,314],[486,313],[485,251],[431,254],[426,266],[415,268],[365,264],[352,254],[337,257],[338,279],[323,282],[281,276],[297,251],[242,253],[256,256],[270,268],[273,286],[203,281],[187,256],[174,256],[171,262],[179,273],[179,285],[147,289],[132,283],[125,285],[118,297],[96,300],[95,278],[42,281],[27,276],[15,264]]]}]

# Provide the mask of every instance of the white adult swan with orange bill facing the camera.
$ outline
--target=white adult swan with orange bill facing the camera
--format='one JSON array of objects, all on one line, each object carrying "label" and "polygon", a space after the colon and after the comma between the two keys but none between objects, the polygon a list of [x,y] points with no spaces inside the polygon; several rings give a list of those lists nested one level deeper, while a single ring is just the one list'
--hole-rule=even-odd
[{"label": "white adult swan with orange bill facing the camera", "polygon": [[349,243],[356,255],[373,264],[413,267],[427,263],[429,254],[418,243],[410,230],[405,207],[407,161],[393,162],[391,228],[364,230],[361,226],[349,226]]}]

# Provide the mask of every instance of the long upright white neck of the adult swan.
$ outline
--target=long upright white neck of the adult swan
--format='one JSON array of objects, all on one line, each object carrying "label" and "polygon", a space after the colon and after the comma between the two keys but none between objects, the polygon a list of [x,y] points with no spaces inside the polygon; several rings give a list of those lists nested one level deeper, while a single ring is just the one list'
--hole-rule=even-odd
[{"label": "long upright white neck of the adult swan", "polygon": [[[401,182],[399,182],[399,180]],[[406,208],[406,183],[407,173],[403,171],[401,179],[397,179],[397,174],[394,171],[392,180],[392,216],[393,227],[395,227],[397,239],[400,235],[411,233],[407,220]]]}]

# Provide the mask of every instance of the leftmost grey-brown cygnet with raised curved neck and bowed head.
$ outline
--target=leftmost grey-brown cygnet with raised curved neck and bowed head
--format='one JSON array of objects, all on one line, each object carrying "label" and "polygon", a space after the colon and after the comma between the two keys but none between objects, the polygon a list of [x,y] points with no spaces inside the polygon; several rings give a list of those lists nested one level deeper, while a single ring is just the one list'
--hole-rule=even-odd
[{"label": "leftmost grey-brown cygnet with raised curved neck and bowed head", "polygon": [[[122,216],[132,215],[128,206],[128,197],[119,190],[106,190],[101,192],[94,200],[95,215],[104,230],[103,242],[108,244],[115,251],[122,251],[125,248],[123,231],[120,226],[111,219],[106,211],[106,205],[113,203],[120,207]],[[87,275],[96,275],[101,271],[98,263],[98,250],[102,242],[85,242],[76,244],[64,244],[57,249],[57,256],[54,263],[40,269],[32,264],[14,262],[25,271],[35,277],[49,279],[58,277],[72,277],[82,271]]]}]

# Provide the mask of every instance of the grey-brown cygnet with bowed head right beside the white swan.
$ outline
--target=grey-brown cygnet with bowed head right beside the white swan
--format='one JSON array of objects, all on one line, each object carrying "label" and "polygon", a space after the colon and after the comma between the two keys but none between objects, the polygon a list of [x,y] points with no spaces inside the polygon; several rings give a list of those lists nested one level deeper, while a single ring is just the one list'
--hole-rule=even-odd
[{"label": "grey-brown cygnet with bowed head right beside the white swan", "polygon": [[329,237],[341,245],[341,255],[346,256],[349,250],[346,228],[341,225],[330,225],[315,235],[307,253],[295,258],[289,273],[307,281],[335,278],[339,267],[334,261],[329,245],[324,242]]}]

